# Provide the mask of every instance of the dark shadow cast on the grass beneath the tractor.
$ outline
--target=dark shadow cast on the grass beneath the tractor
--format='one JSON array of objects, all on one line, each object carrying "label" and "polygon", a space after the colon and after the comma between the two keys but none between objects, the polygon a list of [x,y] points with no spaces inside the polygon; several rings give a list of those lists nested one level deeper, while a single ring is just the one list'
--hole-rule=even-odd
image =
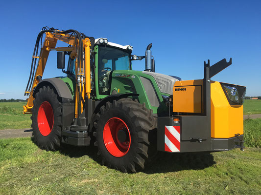
[{"label": "dark shadow cast on the grass beneath the tractor", "polygon": [[[31,137],[34,142],[34,137]],[[78,158],[88,155],[97,163],[102,165],[97,158],[97,148],[95,146],[77,147],[72,145],[62,144],[60,149],[62,155]],[[142,171],[145,174],[168,173],[182,170],[201,170],[215,164],[214,157],[210,153],[180,153],[169,154],[159,152],[157,158],[145,166]]]}]

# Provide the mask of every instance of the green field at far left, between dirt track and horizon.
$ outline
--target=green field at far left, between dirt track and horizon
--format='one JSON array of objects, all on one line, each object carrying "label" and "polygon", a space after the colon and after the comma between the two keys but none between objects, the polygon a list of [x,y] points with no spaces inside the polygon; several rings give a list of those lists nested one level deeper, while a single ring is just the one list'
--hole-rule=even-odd
[{"label": "green field at far left, between dirt track and horizon", "polygon": [[23,114],[26,102],[0,102],[0,129],[30,128],[31,115]]}]

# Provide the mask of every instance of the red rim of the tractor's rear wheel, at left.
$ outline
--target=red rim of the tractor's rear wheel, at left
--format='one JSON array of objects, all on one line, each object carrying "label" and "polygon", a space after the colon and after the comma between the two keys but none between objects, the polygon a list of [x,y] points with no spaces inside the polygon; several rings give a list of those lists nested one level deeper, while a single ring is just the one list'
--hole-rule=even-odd
[{"label": "red rim of the tractor's rear wheel, at left", "polygon": [[53,112],[49,102],[44,101],[38,110],[38,128],[43,136],[48,136],[53,127]]}]

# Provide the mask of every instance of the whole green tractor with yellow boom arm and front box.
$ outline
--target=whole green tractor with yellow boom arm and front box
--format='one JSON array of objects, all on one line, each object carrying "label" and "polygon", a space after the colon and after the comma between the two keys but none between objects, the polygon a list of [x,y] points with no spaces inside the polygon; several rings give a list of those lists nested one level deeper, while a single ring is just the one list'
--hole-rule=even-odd
[{"label": "whole green tractor with yellow boom arm and front box", "polygon": [[[46,38],[37,56],[43,35]],[[55,48],[57,40],[70,47]],[[245,87],[219,82],[214,86],[214,81],[210,81],[231,61],[221,60],[213,66],[205,63],[204,79],[186,82],[155,73],[151,46],[147,46],[145,56],[136,56],[132,55],[131,45],[86,37],[75,30],[43,28],[36,41],[25,90],[29,98],[24,114],[32,114],[35,143],[47,151],[59,150],[61,143],[74,146],[93,143],[103,163],[129,173],[144,169],[157,151],[243,149],[242,122],[238,117],[242,115]],[[66,75],[42,79],[52,50],[58,51],[57,68]],[[142,59],[145,59],[145,70],[132,70],[131,62]],[[216,99],[211,98],[212,86],[215,90],[223,89],[226,102],[222,106],[227,112],[231,113],[232,109],[239,113],[233,118],[237,129],[229,129],[222,137],[216,137],[220,130],[212,125],[213,107],[220,106],[211,104]],[[235,95],[230,96],[233,90]],[[237,135],[231,137],[234,133]]]}]

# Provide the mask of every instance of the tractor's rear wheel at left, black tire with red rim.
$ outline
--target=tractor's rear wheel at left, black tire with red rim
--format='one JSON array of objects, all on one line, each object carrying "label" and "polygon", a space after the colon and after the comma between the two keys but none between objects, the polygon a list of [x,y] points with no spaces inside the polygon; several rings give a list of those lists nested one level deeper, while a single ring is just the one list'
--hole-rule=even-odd
[{"label": "tractor's rear wheel at left, black tire with red rim", "polygon": [[[49,86],[43,86],[36,93],[33,105],[31,127],[33,128],[35,144],[46,151],[59,150],[62,112],[61,103],[58,101],[57,95]],[[42,116],[48,118],[47,122],[42,119]]]}]

